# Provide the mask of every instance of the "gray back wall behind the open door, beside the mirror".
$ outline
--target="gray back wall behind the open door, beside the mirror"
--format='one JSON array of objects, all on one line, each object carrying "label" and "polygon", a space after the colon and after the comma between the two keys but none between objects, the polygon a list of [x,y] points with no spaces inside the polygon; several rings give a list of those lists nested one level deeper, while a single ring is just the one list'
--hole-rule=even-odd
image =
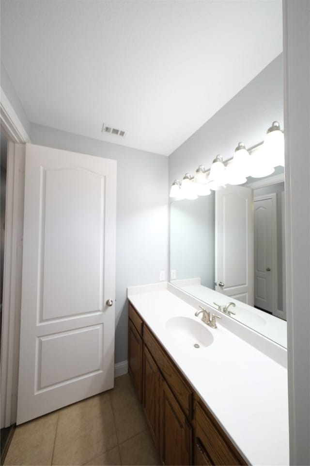
[{"label": "gray back wall behind the open door, beside the mirror", "polygon": [[33,144],[117,160],[115,362],[127,359],[127,286],[168,272],[168,157],[31,124]]}]

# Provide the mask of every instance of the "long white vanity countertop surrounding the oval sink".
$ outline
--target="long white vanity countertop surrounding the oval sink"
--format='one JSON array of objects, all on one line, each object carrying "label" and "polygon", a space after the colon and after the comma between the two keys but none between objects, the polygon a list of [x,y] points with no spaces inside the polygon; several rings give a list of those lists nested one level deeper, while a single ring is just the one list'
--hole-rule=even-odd
[{"label": "long white vanity countertop surrounding the oval sink", "polygon": [[206,327],[214,337],[210,346],[195,349],[179,343],[166,329],[169,318],[187,316],[205,324],[195,317],[197,308],[162,284],[128,288],[128,299],[248,463],[288,465],[285,367],[219,322],[217,329]]}]

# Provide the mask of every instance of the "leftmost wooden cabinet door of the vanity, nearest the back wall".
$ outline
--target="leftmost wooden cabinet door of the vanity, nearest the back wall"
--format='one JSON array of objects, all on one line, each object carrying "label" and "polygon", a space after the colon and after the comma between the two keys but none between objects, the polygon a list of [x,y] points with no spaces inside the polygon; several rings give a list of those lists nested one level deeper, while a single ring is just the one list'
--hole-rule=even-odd
[{"label": "leftmost wooden cabinet door of the vanity, nearest the back wall", "polygon": [[137,390],[138,398],[142,399],[142,338],[132,321],[128,324],[128,371]]}]

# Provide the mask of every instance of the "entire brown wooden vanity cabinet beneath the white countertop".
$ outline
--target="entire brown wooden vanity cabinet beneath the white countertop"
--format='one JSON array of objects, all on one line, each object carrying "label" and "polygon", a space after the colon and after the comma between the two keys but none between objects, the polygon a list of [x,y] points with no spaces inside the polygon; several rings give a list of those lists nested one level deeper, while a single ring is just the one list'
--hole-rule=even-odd
[{"label": "entire brown wooden vanity cabinet beneath the white countertop", "polygon": [[128,350],[129,373],[163,465],[247,465],[131,304]]}]

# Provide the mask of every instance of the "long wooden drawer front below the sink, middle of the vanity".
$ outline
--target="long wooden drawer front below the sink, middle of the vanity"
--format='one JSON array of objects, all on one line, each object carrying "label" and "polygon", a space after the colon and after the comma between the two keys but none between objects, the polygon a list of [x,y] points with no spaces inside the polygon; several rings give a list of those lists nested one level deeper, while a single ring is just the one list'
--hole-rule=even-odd
[{"label": "long wooden drawer front below the sink, middle of the vanity", "polygon": [[143,341],[148,347],[150,353],[153,355],[156,364],[163,374],[166,382],[170,386],[173,395],[178,400],[186,416],[191,419],[193,396],[192,390],[180,375],[178,370],[174,367],[170,358],[161,349],[159,343],[155,340],[155,337],[146,325],[144,325],[143,329]]}]

